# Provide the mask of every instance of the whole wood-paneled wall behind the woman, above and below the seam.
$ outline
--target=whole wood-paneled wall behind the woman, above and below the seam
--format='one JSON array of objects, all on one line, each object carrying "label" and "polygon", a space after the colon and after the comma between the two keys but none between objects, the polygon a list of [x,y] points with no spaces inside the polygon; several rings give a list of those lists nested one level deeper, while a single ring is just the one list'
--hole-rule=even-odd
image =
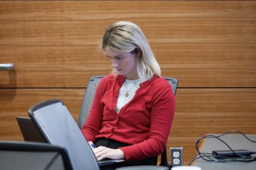
[{"label": "whole wood-paneled wall behind the woman, above and below the seam", "polygon": [[43,100],[78,119],[89,77],[111,71],[98,45],[119,20],[179,80],[167,147],[184,164],[206,133],[256,134],[256,1],[0,1],[0,63],[15,64],[0,71],[0,140],[23,140],[15,117]]}]

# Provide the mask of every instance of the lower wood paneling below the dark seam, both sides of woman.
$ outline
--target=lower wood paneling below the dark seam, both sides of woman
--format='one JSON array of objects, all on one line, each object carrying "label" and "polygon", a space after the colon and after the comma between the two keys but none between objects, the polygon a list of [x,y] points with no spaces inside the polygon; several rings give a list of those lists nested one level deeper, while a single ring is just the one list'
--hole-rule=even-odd
[{"label": "lower wood paneling below the dark seam, both sides of woman", "polygon": [[[84,89],[0,89],[0,140],[23,140],[16,116],[43,100],[58,98],[77,121]],[[255,88],[178,89],[176,111],[167,148],[183,147],[184,162],[195,154],[195,142],[207,133],[241,130],[256,134]],[[168,160],[169,160],[169,150]]]}]

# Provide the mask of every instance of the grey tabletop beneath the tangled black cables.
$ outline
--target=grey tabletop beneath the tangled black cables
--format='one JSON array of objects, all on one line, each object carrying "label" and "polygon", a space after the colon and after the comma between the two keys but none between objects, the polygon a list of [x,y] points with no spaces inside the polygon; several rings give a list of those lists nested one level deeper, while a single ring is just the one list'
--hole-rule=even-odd
[{"label": "grey tabletop beneath the tangled black cables", "polygon": [[[219,134],[213,134],[218,136]],[[249,139],[256,141],[256,135],[246,135]],[[256,143],[250,142],[240,134],[227,134],[220,137],[221,140],[230,145],[233,150],[247,149],[256,152]],[[201,147],[202,153],[212,153],[212,150],[229,150],[229,148],[215,138],[206,138]],[[252,162],[210,162],[197,159],[194,166],[202,170],[256,170],[256,161]]]}]

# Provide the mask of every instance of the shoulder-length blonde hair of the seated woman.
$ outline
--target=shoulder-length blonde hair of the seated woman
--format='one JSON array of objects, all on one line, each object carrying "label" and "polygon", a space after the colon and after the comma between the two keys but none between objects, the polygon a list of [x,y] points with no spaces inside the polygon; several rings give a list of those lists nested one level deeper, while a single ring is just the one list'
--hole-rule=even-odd
[{"label": "shoulder-length blonde hair of the seated woman", "polygon": [[[113,23],[106,29],[102,38],[101,49],[105,51],[106,46],[117,52],[137,53],[137,73],[140,82],[151,79],[154,74],[161,76],[161,70],[154,54],[148,44],[148,40],[140,27],[127,21]],[[138,49],[139,48],[139,49]],[[113,71],[117,75],[116,71]]]}]

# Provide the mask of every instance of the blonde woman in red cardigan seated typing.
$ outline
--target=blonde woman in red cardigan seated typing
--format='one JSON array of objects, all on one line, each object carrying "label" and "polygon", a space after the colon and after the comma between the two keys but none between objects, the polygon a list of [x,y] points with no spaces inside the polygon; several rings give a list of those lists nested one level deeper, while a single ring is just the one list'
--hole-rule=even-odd
[{"label": "blonde woman in red cardigan seated typing", "polygon": [[[113,72],[99,83],[82,132],[98,160],[150,165],[166,147],[175,110],[172,88],[140,28],[120,21],[106,29],[102,50]],[[111,165],[112,166],[112,165]],[[113,167],[112,166],[112,167]]]}]

